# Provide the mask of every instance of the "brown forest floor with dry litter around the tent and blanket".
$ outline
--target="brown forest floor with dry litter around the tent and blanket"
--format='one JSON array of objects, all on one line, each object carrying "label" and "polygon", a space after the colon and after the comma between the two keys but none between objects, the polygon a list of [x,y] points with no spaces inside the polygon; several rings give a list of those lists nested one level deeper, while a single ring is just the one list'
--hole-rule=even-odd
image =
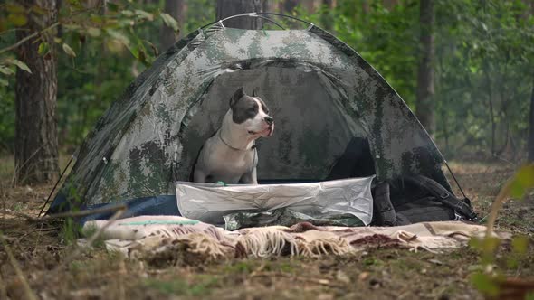
[{"label": "brown forest floor with dry litter around the tent and blanket", "polygon": [[[33,216],[41,210],[52,186],[12,186],[13,158],[0,158],[0,209]],[[11,166],[10,166],[11,165]],[[473,205],[485,216],[497,192],[517,166],[470,161],[451,164]],[[235,259],[199,264],[186,259],[158,266],[131,260],[102,248],[73,259],[76,246],[62,223],[30,224],[0,216],[0,299],[24,299],[31,291],[42,299],[476,299],[470,275],[481,268],[475,249],[442,254],[401,248],[373,248],[350,256]],[[497,228],[526,235],[528,254],[509,264],[510,247],[495,256],[497,268],[509,277],[534,277],[534,197],[506,202]],[[10,262],[11,249],[15,262]],[[14,264],[15,263],[15,264]],[[25,280],[16,275],[18,266]],[[24,282],[29,287],[24,287]]]}]

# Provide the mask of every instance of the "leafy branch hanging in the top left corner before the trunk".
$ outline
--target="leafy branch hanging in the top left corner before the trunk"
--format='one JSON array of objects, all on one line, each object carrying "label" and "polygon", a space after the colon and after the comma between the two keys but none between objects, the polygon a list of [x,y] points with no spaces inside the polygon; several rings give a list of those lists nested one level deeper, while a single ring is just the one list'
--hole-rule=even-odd
[{"label": "leafy branch hanging in the top left corner before the trunk", "polygon": [[[14,33],[17,30],[28,30],[21,28],[21,26],[28,22],[32,14],[51,13],[38,6],[28,8],[15,3],[6,4],[5,11],[8,13],[5,19],[0,15],[0,31],[2,32],[0,35]],[[5,56],[4,58],[0,56],[0,74],[5,76],[14,74],[11,67],[31,72],[23,61],[14,60],[11,52],[24,42],[43,40],[39,44],[38,52],[46,58],[46,55],[53,48],[42,37],[43,34],[51,33],[56,28],[61,28],[62,36],[55,36],[54,34],[52,41],[61,45],[62,51],[72,58],[77,56],[75,48],[65,40],[69,35],[76,34],[84,37],[83,39],[87,36],[100,40],[111,52],[120,52],[123,47],[126,47],[138,61],[147,66],[155,59],[157,47],[152,42],[139,39],[134,28],[142,23],[154,23],[160,20],[176,33],[179,31],[178,23],[172,16],[161,13],[159,10],[154,12],[142,10],[126,0],[117,3],[100,1],[91,7],[85,7],[79,1],[70,0],[63,5],[60,14],[62,15],[58,18],[58,22],[0,49],[0,55]],[[6,27],[8,28],[3,30]],[[147,52],[145,44],[148,44],[153,50],[152,54]],[[7,80],[0,78],[0,85],[7,85]]]}]

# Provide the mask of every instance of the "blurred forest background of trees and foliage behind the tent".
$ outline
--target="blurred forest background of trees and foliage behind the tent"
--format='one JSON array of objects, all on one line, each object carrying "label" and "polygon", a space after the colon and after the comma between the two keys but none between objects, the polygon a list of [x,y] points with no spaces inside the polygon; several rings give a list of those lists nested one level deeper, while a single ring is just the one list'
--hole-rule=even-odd
[{"label": "blurred forest background of trees and foliage behind the tent", "polygon": [[[36,47],[41,61],[57,60],[57,139],[60,151],[71,153],[160,52],[240,9],[295,15],[347,42],[405,99],[448,157],[529,153],[534,0],[58,0],[59,24],[46,34],[39,33],[46,22],[33,26],[50,14],[39,4],[0,4],[0,152],[7,155],[20,142],[16,81],[30,74],[26,67],[43,74],[19,59],[23,47]],[[11,49],[35,31],[32,42]]]}]

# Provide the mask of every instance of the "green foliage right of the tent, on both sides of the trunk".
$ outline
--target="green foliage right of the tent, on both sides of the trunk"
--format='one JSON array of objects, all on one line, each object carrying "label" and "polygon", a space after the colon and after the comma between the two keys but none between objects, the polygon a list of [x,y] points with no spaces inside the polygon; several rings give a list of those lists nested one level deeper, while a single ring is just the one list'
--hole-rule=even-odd
[{"label": "green foliage right of the tent, on both sides of the trunk", "polygon": [[[534,84],[528,12],[518,0],[435,2],[435,137],[448,154],[524,151]],[[347,42],[416,110],[419,1],[339,0],[305,19]]]}]

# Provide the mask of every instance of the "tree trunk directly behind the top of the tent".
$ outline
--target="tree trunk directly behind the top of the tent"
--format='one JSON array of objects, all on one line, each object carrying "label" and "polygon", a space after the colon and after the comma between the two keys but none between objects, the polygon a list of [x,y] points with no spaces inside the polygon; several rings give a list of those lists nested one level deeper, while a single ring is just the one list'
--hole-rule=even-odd
[{"label": "tree trunk directly behind the top of the tent", "polygon": [[[217,0],[216,19],[222,20],[234,14],[260,13],[267,0]],[[241,29],[262,29],[262,19],[253,17],[237,17],[224,21],[225,27]]]}]

